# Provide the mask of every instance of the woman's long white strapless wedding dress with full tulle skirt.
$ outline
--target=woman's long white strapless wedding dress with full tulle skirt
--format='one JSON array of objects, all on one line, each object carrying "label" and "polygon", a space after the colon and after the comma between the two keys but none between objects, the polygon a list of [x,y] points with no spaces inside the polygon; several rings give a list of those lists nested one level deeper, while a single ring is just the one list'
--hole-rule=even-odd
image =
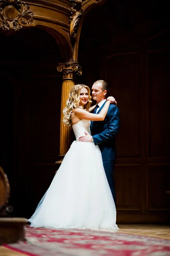
[{"label": "woman's long white strapless wedding dress with full tulle skirt", "polygon": [[90,134],[90,121],[82,119],[72,128],[76,140],[29,219],[31,227],[117,229],[101,151],[94,142],[78,141],[85,131]]}]

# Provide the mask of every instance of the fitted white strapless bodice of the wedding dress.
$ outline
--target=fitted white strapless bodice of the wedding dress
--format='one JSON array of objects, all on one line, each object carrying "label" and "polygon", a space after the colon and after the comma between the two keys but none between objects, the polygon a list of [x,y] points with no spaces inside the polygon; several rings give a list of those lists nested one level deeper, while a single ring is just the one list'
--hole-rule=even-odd
[{"label": "fitted white strapless bodice of the wedding dress", "polygon": [[90,121],[89,120],[81,119],[75,125],[72,125],[72,129],[74,131],[76,140],[78,140],[78,138],[80,136],[84,136],[85,135],[84,132],[86,132],[87,134],[91,135],[91,132],[90,132]]}]

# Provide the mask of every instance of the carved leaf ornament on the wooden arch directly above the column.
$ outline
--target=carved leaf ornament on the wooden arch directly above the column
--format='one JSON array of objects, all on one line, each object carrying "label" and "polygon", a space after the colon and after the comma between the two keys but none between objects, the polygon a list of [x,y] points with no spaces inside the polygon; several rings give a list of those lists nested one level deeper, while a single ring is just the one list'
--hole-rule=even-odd
[{"label": "carved leaf ornament on the wooden arch directly above the column", "polygon": [[81,14],[83,11],[83,8],[81,7],[82,4],[82,0],[72,0],[70,1],[73,3],[73,7],[71,9],[71,16],[70,16],[70,36],[72,38],[72,40],[75,40],[77,37],[77,27],[78,27],[78,23],[80,21],[81,18]]}]

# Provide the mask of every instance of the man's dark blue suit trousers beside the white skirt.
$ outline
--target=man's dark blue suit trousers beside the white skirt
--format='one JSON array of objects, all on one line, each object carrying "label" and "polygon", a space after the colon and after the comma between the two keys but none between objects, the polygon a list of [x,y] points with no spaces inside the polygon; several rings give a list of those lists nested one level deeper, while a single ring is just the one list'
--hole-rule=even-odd
[{"label": "man's dark blue suit trousers beside the white skirt", "polygon": [[106,173],[106,177],[109,183],[110,190],[112,192],[113,200],[115,202],[116,207],[116,193],[115,193],[115,179],[114,179],[114,169],[115,169],[115,161],[114,160],[103,160],[103,166]]}]

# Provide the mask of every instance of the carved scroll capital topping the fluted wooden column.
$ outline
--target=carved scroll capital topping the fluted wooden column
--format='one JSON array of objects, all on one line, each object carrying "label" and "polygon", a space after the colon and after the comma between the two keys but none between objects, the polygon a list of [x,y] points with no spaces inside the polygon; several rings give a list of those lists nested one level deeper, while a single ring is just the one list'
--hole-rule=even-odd
[{"label": "carved scroll capital topping the fluted wooden column", "polygon": [[58,63],[57,70],[63,73],[63,80],[74,80],[75,76],[81,76],[81,67],[77,62]]}]

